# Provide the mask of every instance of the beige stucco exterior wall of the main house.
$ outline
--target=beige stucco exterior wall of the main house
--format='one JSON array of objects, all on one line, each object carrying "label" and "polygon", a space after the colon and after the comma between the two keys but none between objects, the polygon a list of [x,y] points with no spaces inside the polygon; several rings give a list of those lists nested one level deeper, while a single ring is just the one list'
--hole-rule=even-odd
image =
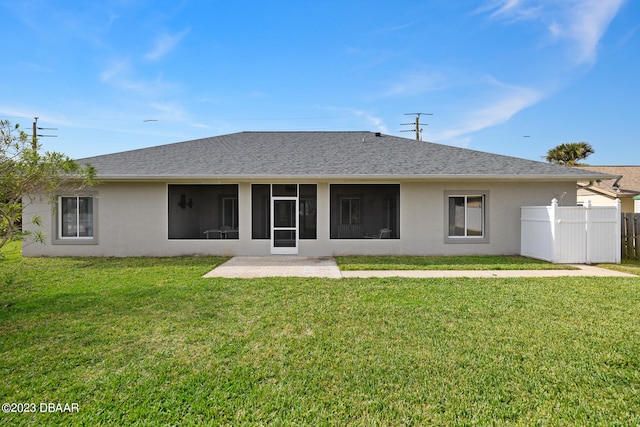
[{"label": "beige stucco exterior wall of the main house", "polygon": [[[216,182],[218,183],[218,182]],[[235,183],[235,182],[225,182]],[[330,183],[317,183],[317,239],[300,240],[299,255],[477,255],[517,254],[520,251],[520,207],[548,205],[563,198],[574,205],[572,182],[385,182],[400,184],[400,239],[330,239]],[[177,240],[168,238],[167,183],[104,183],[93,191],[96,239],[91,242],[52,242],[55,214],[44,200],[25,209],[29,218],[42,217],[45,244],[23,244],[25,256],[178,256],[269,255],[269,240],[251,239],[251,184],[238,186],[239,238]],[[445,192],[488,194],[486,243],[448,243],[445,232]],[[62,243],[62,244],[61,244]]]}]

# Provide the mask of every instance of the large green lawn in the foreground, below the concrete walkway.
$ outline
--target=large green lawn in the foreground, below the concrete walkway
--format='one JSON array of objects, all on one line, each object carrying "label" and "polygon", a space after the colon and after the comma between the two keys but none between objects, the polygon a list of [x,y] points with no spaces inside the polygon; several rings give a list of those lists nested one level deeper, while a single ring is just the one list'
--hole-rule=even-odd
[{"label": "large green lawn in the foreground, below the concrete walkway", "polygon": [[36,413],[0,424],[640,423],[640,279],[200,278],[222,261],[9,253],[0,401]]}]

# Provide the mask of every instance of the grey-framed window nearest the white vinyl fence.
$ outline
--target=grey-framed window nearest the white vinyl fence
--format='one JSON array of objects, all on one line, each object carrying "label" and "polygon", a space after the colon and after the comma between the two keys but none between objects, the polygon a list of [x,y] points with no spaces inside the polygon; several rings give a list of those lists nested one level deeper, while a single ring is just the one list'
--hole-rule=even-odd
[{"label": "grey-framed window nearest the white vinyl fence", "polygon": [[447,235],[446,241],[454,243],[488,242],[486,192],[481,194],[460,194],[449,192],[446,195]]}]

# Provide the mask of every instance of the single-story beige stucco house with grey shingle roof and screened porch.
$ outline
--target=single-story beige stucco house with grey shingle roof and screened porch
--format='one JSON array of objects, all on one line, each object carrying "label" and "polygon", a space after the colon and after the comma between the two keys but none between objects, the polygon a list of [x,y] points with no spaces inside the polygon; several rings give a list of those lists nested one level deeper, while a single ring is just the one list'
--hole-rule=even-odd
[{"label": "single-story beige stucco house with grey shingle roof and screened porch", "polygon": [[26,256],[517,254],[520,207],[600,173],[372,132],[241,132],[80,159]]}]

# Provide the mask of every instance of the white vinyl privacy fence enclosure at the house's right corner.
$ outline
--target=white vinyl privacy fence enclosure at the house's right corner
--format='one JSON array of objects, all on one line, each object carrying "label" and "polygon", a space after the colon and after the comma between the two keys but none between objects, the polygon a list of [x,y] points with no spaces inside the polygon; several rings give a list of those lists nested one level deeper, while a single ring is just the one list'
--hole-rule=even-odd
[{"label": "white vinyl privacy fence enclosure at the house's right corner", "polygon": [[523,206],[520,254],[559,264],[620,263],[620,200],[616,206]]}]

